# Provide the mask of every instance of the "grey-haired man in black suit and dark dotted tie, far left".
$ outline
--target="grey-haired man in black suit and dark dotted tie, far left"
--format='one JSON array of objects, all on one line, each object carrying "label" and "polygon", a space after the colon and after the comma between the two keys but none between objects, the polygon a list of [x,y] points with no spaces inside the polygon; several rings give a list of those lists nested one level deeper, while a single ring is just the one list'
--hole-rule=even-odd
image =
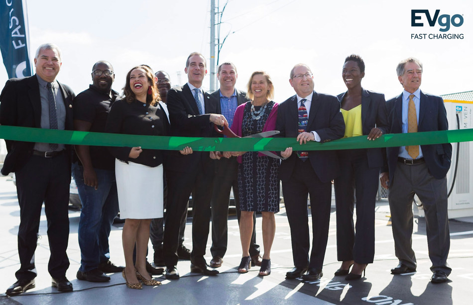
[{"label": "grey-haired man in black suit and dark dotted tie, far left", "polygon": [[[61,51],[54,44],[39,46],[34,57],[36,74],[22,79],[11,78],[0,95],[0,124],[44,129],[73,129],[72,100],[74,92],[59,83]],[[64,144],[6,141],[8,153],[1,173],[16,175],[20,206],[18,255],[20,269],[16,281],[6,290],[9,296],[34,288],[36,267],[34,251],[38,238],[41,206],[48,222],[51,250],[48,271],[52,286],[58,291],[72,291],[66,278],[69,259],[69,184],[71,182],[71,149]]]}]

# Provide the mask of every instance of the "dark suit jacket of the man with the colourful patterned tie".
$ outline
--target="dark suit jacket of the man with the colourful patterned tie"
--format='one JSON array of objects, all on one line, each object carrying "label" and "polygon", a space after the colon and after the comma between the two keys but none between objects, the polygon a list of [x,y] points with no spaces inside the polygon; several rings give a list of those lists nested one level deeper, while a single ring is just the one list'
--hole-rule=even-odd
[{"label": "dark suit jacket of the man with the colourful patterned tie", "polygon": [[[276,130],[280,132],[275,137],[297,138],[298,106],[296,95],[279,104],[276,120]],[[321,142],[340,139],[345,134],[345,122],[340,112],[340,102],[335,96],[317,93],[312,95],[307,131],[315,131]],[[303,148],[304,146],[301,146]],[[281,161],[279,178],[284,182],[289,179],[294,169],[297,153]],[[322,182],[329,182],[339,175],[337,155],[332,151],[309,151],[310,163]]]}]

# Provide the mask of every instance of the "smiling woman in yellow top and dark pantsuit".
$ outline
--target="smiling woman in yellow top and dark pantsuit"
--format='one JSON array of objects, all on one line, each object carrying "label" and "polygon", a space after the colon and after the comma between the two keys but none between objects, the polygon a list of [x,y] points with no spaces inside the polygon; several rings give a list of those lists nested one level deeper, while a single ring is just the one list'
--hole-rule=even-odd
[{"label": "smiling woman in yellow top and dark pantsuit", "polygon": [[[384,95],[361,87],[364,62],[358,55],[345,59],[342,77],[348,88],[347,92],[338,95],[345,120],[345,138],[364,135],[368,140],[376,140],[387,131]],[[340,176],[335,179],[337,258],[342,266],[335,275],[347,275],[346,280],[357,280],[374,258],[374,206],[383,154],[379,148],[337,153],[341,169]]]}]

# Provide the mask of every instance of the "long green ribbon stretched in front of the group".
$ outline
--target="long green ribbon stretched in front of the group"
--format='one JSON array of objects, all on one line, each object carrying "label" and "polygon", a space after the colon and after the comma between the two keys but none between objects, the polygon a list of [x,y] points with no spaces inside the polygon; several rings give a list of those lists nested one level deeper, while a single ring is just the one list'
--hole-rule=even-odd
[{"label": "long green ribbon stretched in front of the group", "polygon": [[[24,142],[60,143],[71,145],[136,147],[155,150],[182,150],[186,146],[194,151],[283,151],[287,147],[300,150],[295,138],[187,138],[157,137],[95,133],[69,130],[0,126],[0,139]],[[386,134],[374,141],[366,136],[352,137],[326,143],[308,142],[304,151],[329,151],[406,145],[428,145],[473,141],[473,129]]]}]

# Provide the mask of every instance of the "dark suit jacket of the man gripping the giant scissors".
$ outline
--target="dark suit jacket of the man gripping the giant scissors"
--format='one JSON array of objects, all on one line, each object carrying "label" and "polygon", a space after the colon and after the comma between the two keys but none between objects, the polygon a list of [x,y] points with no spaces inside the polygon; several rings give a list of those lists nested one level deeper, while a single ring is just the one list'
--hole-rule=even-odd
[{"label": "dark suit jacket of the man gripping the giant scissors", "polygon": [[[199,114],[197,103],[189,85],[171,88],[167,93],[166,105],[171,121],[171,135],[175,137],[215,137],[210,113],[218,113],[217,99],[204,92],[205,113]],[[192,171],[199,159],[210,159],[209,152],[194,152],[182,155],[178,151],[168,153],[168,168],[177,171]]]}]

